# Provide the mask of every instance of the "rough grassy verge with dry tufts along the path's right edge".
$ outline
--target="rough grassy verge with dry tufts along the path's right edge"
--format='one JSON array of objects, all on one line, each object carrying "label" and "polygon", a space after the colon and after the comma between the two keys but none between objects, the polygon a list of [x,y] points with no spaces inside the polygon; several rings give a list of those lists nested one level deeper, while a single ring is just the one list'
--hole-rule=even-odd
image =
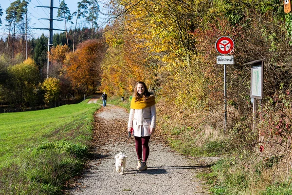
[{"label": "rough grassy verge with dry tufts along the path's right edge", "polygon": [[[170,127],[165,134],[170,146],[188,156],[221,156],[211,167],[211,173],[203,178],[211,186],[214,195],[291,195],[292,173],[289,158],[276,154],[265,155],[258,148],[245,150],[232,140],[224,140],[207,133],[208,130],[192,130],[186,127]],[[274,146],[276,147],[276,146]],[[266,155],[270,156],[267,157]]]}]

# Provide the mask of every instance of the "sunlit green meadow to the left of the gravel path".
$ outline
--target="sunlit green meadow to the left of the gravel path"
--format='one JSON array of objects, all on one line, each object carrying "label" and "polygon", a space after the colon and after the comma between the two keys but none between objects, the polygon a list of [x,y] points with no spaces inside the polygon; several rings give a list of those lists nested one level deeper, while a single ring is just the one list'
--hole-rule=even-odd
[{"label": "sunlit green meadow to the left of the gravel path", "polygon": [[99,107],[83,101],[0,114],[0,194],[61,194],[64,182],[83,167]]}]

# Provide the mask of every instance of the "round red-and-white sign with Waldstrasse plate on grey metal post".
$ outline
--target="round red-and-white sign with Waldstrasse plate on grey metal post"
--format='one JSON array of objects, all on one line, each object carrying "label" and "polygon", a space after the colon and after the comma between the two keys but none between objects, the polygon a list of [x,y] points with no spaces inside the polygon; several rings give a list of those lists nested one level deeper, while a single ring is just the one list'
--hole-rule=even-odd
[{"label": "round red-and-white sign with Waldstrasse plate on grey metal post", "polygon": [[215,43],[217,52],[224,56],[217,56],[217,64],[224,64],[224,133],[227,131],[227,90],[226,90],[226,64],[233,64],[233,56],[230,54],[234,49],[234,41],[230,37],[222,36]]}]

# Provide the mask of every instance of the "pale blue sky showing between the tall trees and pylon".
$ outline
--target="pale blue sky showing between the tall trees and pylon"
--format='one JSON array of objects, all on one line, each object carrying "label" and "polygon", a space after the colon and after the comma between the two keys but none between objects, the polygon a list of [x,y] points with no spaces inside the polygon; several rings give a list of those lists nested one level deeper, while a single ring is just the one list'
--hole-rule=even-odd
[{"label": "pale blue sky showing between the tall trees and pylon", "polygon": [[[2,26],[0,26],[0,38],[6,38],[8,35],[8,29],[5,26],[7,24],[5,17],[6,17],[6,9],[10,6],[10,4],[15,1],[15,0],[0,0],[0,7],[3,10],[3,16],[1,17],[2,20]],[[59,2],[62,0],[54,0],[54,7],[59,6]],[[77,10],[77,3],[81,0],[65,0],[65,3],[67,4],[67,7],[70,9],[71,14]],[[101,10],[101,13],[99,14],[99,19],[98,19],[98,25],[100,27],[105,25],[107,16],[103,15],[102,13],[106,13],[107,10],[104,6],[104,3],[107,2],[108,0],[99,0],[99,7]],[[49,19],[50,18],[50,9],[49,8],[41,8],[41,7],[36,7],[36,6],[50,6],[50,0],[31,0],[28,6],[28,18],[31,19],[30,25],[33,25],[33,28],[49,28],[49,20],[38,20],[38,19]],[[57,15],[57,9],[54,9],[54,19],[56,18]],[[76,18],[73,17],[73,20],[71,20],[75,23]],[[79,20],[80,21],[80,20]],[[79,23],[78,21],[78,23]],[[74,28],[75,24],[68,24],[67,23],[67,30],[70,28]],[[78,24],[77,24],[78,27]],[[64,21],[57,21],[54,20],[53,28],[55,29],[63,29],[65,30],[65,23]],[[63,31],[53,31],[53,33],[61,33]],[[31,36],[37,38],[40,37],[41,34],[44,34],[45,36],[49,35],[48,30],[37,30],[34,29],[33,33]]]}]

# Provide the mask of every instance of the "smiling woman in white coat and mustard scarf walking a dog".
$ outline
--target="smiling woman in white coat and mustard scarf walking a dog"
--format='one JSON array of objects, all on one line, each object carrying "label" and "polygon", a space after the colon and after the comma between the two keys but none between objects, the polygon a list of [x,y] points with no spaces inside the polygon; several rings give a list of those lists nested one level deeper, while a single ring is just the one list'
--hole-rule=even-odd
[{"label": "smiling woman in white coat and mustard scarf walking a dog", "polygon": [[[128,132],[133,131],[139,171],[147,170],[149,140],[156,127],[155,97],[142,81],[137,82],[130,104]],[[143,155],[143,156],[142,156]],[[142,158],[143,157],[143,158]]]}]

